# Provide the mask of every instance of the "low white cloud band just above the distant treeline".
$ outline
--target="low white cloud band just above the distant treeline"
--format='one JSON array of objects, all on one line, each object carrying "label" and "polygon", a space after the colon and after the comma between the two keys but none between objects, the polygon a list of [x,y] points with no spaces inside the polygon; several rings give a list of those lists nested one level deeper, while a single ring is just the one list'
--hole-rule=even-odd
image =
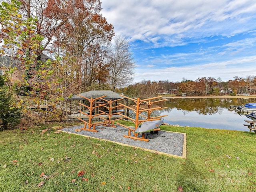
[{"label": "low white cloud band just above the distant treeline", "polygon": [[[170,80],[173,82],[181,81],[183,77],[188,80],[196,80],[198,77],[221,77],[222,81],[231,80],[232,77],[246,77],[256,71],[256,56],[241,57],[234,60],[223,62],[212,62],[202,65],[191,65],[181,67],[166,67],[152,70],[136,70],[134,82],[140,82],[143,79],[159,81]],[[247,66],[244,68],[243,66]]]}]

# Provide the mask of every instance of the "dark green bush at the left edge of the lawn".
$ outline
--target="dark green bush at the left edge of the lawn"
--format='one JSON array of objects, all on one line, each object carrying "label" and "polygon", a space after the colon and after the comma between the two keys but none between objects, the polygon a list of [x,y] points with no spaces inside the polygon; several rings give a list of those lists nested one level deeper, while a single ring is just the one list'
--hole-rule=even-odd
[{"label": "dark green bush at the left edge of the lawn", "polygon": [[4,88],[4,81],[0,76],[0,130],[13,128],[20,122],[21,110],[16,108],[12,94]]}]

